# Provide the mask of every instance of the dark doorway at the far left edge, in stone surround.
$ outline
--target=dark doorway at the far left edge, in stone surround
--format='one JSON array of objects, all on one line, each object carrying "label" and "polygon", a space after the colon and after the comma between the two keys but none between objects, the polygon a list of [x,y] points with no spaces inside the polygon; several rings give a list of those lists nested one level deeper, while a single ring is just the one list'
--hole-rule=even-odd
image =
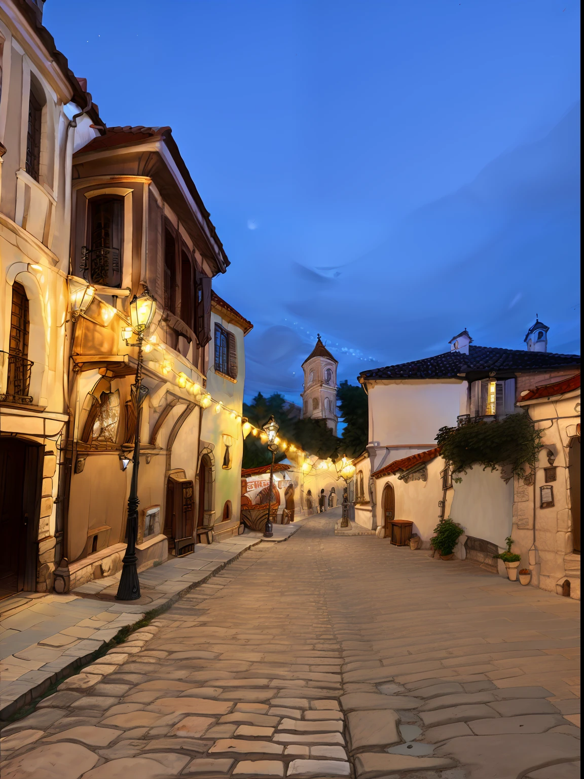
[{"label": "dark doorway at the far left edge, in stone surround", "polygon": [[0,598],[37,585],[42,449],[0,437]]}]

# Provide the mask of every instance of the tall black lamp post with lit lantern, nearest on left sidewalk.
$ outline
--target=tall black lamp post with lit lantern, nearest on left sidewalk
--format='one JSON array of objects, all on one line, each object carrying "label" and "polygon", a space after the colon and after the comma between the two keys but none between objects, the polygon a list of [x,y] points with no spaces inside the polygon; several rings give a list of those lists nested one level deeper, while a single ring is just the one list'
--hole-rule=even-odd
[{"label": "tall black lamp post with lit lantern, nearest on left sidewalk", "polygon": [[[144,333],[150,327],[154,314],[157,310],[157,304],[148,287],[137,297],[134,295],[130,303],[130,321],[132,322],[132,332],[129,328],[124,328],[122,337],[128,346],[138,347],[138,365],[135,370],[135,380],[132,384],[132,402],[134,404],[135,431],[134,431],[134,454],[132,456],[132,481],[130,483],[130,495],[128,497],[128,546],[125,548],[124,559],[121,561],[120,583],[118,586],[118,601],[135,601],[140,597],[140,582],[136,562],[138,558],[135,554],[135,545],[138,540],[138,467],[140,464],[140,421],[142,418],[142,401],[148,390],[142,387],[142,340]],[[137,337],[135,342],[129,339],[132,333]]]}]

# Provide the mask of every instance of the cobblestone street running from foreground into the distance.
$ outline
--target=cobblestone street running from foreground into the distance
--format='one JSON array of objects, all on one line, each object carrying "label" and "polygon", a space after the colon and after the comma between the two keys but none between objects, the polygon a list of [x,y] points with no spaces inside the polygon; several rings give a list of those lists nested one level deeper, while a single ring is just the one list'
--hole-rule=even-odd
[{"label": "cobblestone street running from foreground into the distance", "polygon": [[335,519],[62,682],[3,779],[579,776],[578,604]]}]

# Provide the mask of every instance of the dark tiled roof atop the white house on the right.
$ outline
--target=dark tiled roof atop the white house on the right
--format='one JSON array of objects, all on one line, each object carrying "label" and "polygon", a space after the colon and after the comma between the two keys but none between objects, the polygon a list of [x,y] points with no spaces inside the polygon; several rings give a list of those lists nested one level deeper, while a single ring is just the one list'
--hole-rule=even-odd
[{"label": "dark tiled roof atop the white house on the right", "polygon": [[361,371],[359,381],[375,379],[456,379],[460,373],[485,371],[537,371],[580,365],[579,354],[469,346],[469,353],[447,351],[435,357]]}]

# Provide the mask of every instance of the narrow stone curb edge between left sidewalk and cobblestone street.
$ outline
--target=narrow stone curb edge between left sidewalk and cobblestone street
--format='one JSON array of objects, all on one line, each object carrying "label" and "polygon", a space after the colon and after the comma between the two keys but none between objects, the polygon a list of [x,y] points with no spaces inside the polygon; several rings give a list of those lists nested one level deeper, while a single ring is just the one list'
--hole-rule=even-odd
[{"label": "narrow stone curb edge between left sidewalk and cobblestone street", "polygon": [[[298,530],[300,530],[300,527],[298,527]],[[294,535],[294,533],[290,534]],[[287,538],[280,538],[279,541],[287,541],[290,536],[287,536]],[[272,541],[272,539],[266,539],[269,541]],[[255,546],[258,546],[261,543],[262,539],[257,539],[250,543],[248,548],[242,549],[241,552],[237,552],[237,555],[234,555],[229,560],[224,560],[223,562],[220,562],[216,568],[214,568],[212,571],[209,571],[209,574],[205,576],[204,579],[199,579],[199,581],[191,582],[188,584],[187,587],[183,587],[182,590],[178,590],[178,592],[172,593],[168,595],[168,597],[164,598],[164,602],[160,603],[162,601],[162,598],[158,598],[157,601],[159,602],[159,605],[155,606],[156,610],[164,610],[166,611],[168,608],[171,608],[174,603],[176,603],[178,600],[181,599],[181,597],[184,597],[186,594],[191,592],[192,590],[195,590],[196,587],[200,587],[202,584],[209,581],[209,579],[212,576],[215,576],[216,573],[219,573],[224,568],[230,565],[230,563],[234,562],[235,560],[239,559],[241,555],[243,555],[245,552],[248,552],[249,549],[254,548]],[[90,595],[84,595],[83,597],[89,597]],[[93,600],[100,600],[100,598],[93,598]],[[154,601],[154,602],[157,602]],[[146,611],[152,611],[153,609],[147,609]],[[118,635],[118,633],[121,632],[122,629],[135,625],[136,622],[139,622],[141,619],[143,619],[144,615],[146,614],[146,611],[143,612],[136,612],[135,613],[135,622],[128,622],[126,625],[121,626],[116,633],[114,633],[114,636],[111,637],[110,641],[114,640],[115,636]],[[105,644],[110,643],[110,641],[104,641],[101,640],[100,646],[97,647],[97,649],[101,649],[104,647]],[[72,675],[72,671],[75,671],[76,668],[80,668],[81,666],[88,663],[93,656],[93,654],[97,651],[97,649],[93,649],[87,654],[83,654],[81,657],[72,657],[71,662],[64,665],[63,668],[60,668],[58,671],[55,671],[54,674],[51,674],[50,676],[47,676],[46,679],[43,679],[42,682],[34,683],[31,682],[30,687],[28,689],[24,689],[23,693],[21,693],[17,698],[10,701],[10,703],[7,703],[5,707],[2,707],[0,709],[0,728],[2,728],[2,721],[5,721],[9,719],[9,717],[12,717],[13,714],[16,714],[16,711],[18,711],[23,706],[26,706],[33,702],[33,700],[39,698],[43,693],[47,691],[47,689],[54,684],[55,682],[58,682],[59,679],[64,679],[66,676]],[[26,682],[23,682],[23,685],[26,685]]]}]

